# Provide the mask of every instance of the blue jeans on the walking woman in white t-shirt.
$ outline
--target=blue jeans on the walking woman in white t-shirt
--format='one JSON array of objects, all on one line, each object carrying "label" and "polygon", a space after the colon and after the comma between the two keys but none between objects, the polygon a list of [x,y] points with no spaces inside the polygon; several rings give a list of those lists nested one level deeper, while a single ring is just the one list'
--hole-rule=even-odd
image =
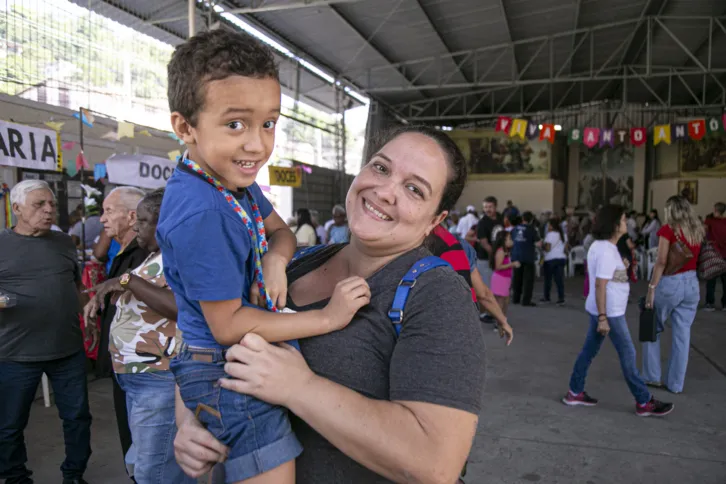
[{"label": "blue jeans on the walking woman in white t-shirt", "polygon": [[[602,342],[605,341],[605,337],[597,332],[597,316],[592,314],[588,314],[588,316],[590,317],[590,328],[570,377],[570,391],[575,394],[585,390],[587,371],[590,369],[592,360],[600,351]],[[610,341],[613,342],[615,351],[618,352],[620,368],[623,370],[630,393],[633,394],[637,403],[646,404],[650,401],[650,392],[638,373],[635,363],[635,346],[630,338],[630,330],[625,316],[608,318],[608,323],[610,324]]]}]

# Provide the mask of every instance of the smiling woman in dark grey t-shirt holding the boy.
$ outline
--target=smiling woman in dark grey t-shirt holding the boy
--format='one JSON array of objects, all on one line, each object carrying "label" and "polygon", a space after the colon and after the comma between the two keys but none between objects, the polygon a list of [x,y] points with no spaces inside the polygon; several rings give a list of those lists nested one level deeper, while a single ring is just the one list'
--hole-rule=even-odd
[{"label": "smiling woman in dark grey t-shirt holding the boy", "polygon": [[[372,299],[343,330],[289,346],[254,334],[227,352],[224,388],[288,407],[304,451],[297,482],[455,482],[471,449],[484,377],[477,310],[450,267],[422,274],[396,338],[388,317],[402,276],[466,182],[466,161],[444,133],[401,127],[348,191],[351,240],[288,269],[288,308],[324,304],[335,284],[365,277]],[[304,356],[304,359],[303,359]],[[189,412],[178,415],[176,456],[192,476],[225,449]]]}]

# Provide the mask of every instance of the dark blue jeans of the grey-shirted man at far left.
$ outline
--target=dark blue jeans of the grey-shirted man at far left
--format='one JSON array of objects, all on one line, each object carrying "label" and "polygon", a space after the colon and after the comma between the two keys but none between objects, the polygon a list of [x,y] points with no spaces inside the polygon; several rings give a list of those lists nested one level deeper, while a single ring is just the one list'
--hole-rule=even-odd
[{"label": "dark blue jeans of the grey-shirted man at far left", "polygon": [[6,484],[31,482],[31,472],[25,467],[28,456],[23,431],[43,373],[53,386],[55,404],[63,420],[63,477],[80,479],[91,457],[85,352],[51,361],[0,361],[0,479],[7,479]]}]

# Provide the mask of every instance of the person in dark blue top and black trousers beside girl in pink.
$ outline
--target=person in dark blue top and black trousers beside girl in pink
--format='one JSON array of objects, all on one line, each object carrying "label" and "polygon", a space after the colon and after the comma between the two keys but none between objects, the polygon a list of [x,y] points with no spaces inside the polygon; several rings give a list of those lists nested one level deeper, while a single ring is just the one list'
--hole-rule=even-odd
[{"label": "person in dark blue top and black trousers beside girl in pink", "polygon": [[541,244],[537,230],[532,226],[534,215],[532,212],[522,214],[522,223],[512,230],[512,260],[519,261],[520,266],[514,269],[512,279],[512,303],[522,306],[536,306],[532,302],[534,290],[535,264],[537,261],[536,247]]}]

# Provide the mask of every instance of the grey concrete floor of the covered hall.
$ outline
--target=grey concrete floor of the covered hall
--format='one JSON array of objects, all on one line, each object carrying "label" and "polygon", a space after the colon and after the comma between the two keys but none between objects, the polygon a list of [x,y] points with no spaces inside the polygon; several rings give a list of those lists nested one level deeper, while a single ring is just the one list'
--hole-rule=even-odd
[{"label": "grey concrete floor of the covered hall", "polygon": [[[513,307],[516,336],[509,348],[485,326],[487,386],[467,484],[726,483],[726,313],[698,313],[685,393],[656,392],[676,405],[668,417],[635,416],[609,342],[588,378],[587,390],[600,404],[569,408],[559,399],[587,327],[581,287],[582,278],[568,280],[564,308]],[[633,301],[644,288],[634,286]],[[539,299],[541,281],[536,293]],[[628,318],[637,338],[635,304]],[[127,483],[110,381],[91,383],[90,399],[94,453],[85,477],[90,484]],[[63,440],[55,407],[36,402],[26,440],[36,482],[60,482]]]}]

